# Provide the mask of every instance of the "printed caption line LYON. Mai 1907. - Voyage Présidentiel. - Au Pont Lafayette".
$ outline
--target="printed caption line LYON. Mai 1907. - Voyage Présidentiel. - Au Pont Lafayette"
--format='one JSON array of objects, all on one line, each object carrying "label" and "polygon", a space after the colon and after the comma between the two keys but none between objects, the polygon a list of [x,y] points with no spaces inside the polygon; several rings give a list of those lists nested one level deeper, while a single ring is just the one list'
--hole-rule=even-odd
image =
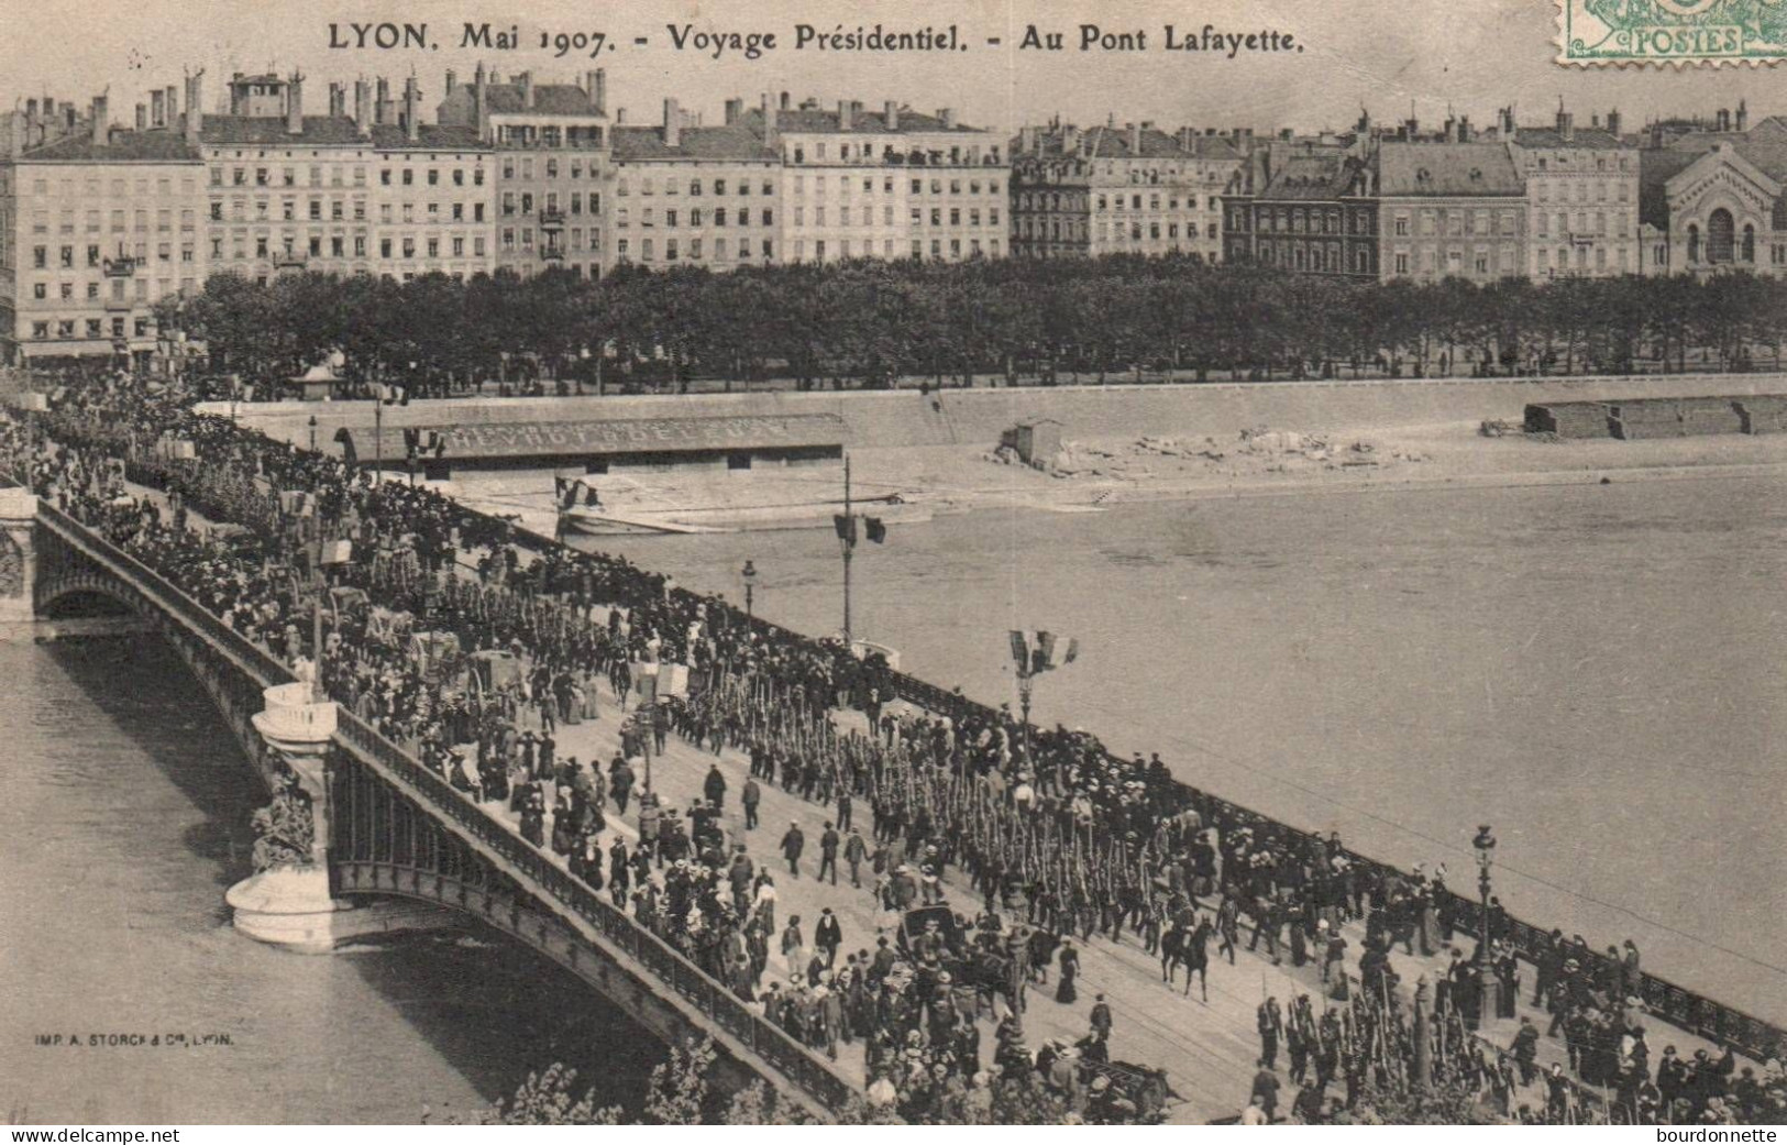
[{"label": "printed caption line LYON. Mai 1907. - Voyage Pr\u00e9sidentiel. - Au Pont Lafayette", "polygon": [[331,21],[327,46],[338,52],[438,52],[441,45],[475,52],[543,52],[554,59],[600,59],[620,50],[659,50],[709,59],[763,59],[774,52],[1183,52],[1235,59],[1254,54],[1303,52],[1303,43],[1279,29],[1113,27],[1101,23],[1026,25],[1017,34],[970,36],[961,25],[793,23],[786,29],[749,29],[706,23],[665,23],[661,30],[620,34],[599,27],[534,27],[522,23]]}]

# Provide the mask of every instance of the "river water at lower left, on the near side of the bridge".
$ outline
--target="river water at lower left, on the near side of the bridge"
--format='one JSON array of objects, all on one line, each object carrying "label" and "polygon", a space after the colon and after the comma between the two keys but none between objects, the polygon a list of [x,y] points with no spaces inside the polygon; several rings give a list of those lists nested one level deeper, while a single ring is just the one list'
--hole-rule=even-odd
[{"label": "river water at lower left, on the near side of the bridge", "polygon": [[322,957],[238,936],[223,891],[248,873],[264,793],[157,639],[0,643],[0,681],[5,1120],[475,1118],[531,1068],[577,1066],[606,1104],[659,1057],[586,984],[488,931]]}]

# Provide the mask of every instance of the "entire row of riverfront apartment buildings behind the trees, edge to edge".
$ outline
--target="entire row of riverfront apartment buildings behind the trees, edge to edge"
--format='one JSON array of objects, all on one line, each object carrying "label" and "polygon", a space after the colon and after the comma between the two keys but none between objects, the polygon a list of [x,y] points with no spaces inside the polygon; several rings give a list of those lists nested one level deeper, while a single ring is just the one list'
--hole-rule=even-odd
[{"label": "entire row of riverfront apartment buildings behind the trees, edge to edge", "polygon": [[204,73],[113,123],[50,98],[0,114],[0,361],[148,355],[154,305],[207,275],[600,275],[840,259],[1196,254],[1346,279],[1787,273],[1787,120],[1512,109],[1321,136],[1053,121],[1015,138],[951,109],[677,100],[629,123],[575,84],[445,73],[329,84]]}]

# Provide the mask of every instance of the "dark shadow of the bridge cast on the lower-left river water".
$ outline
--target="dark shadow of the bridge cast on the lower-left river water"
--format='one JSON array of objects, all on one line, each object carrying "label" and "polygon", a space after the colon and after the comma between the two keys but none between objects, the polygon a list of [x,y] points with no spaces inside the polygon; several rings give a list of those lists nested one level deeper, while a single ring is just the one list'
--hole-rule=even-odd
[{"label": "dark shadow of the bridge cast on the lower-left river water", "polygon": [[[229,927],[222,890],[250,873],[248,816],[266,791],[204,688],[157,636],[63,639],[43,650],[202,816],[180,831],[179,843],[218,888],[206,913],[216,927]],[[82,754],[79,740],[64,743],[64,756],[75,781],[109,766],[98,757],[104,752]],[[634,1111],[647,1075],[667,1056],[663,1043],[591,986],[470,916],[463,931],[400,934],[332,957],[402,1015],[484,1102],[508,1099],[529,1072],[563,1063],[577,1070],[577,1097],[593,1086],[599,1106]],[[481,1113],[443,1109],[440,1099],[416,1093],[415,1118],[429,1107],[434,1120]]]}]

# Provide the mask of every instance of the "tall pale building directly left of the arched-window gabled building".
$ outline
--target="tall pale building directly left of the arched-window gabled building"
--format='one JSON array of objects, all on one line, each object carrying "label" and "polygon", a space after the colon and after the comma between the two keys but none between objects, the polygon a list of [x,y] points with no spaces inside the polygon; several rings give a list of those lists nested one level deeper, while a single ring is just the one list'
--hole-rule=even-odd
[{"label": "tall pale building directly left of the arched-window gabled building", "polygon": [[1526,184],[1526,275],[1630,275],[1640,270],[1639,146],[1621,136],[1619,111],[1576,127],[1558,111],[1548,127],[1515,127],[1501,113],[1501,134]]}]

